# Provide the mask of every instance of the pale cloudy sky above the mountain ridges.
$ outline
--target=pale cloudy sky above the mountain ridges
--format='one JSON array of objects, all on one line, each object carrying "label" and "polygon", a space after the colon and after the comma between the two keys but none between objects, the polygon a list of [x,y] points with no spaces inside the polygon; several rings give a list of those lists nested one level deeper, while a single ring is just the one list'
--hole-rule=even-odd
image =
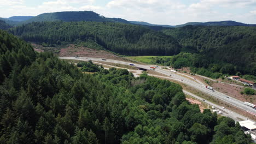
[{"label": "pale cloudy sky above the mountain ridges", "polygon": [[0,0],[0,17],[84,10],[164,25],[224,20],[256,23],[256,0]]}]

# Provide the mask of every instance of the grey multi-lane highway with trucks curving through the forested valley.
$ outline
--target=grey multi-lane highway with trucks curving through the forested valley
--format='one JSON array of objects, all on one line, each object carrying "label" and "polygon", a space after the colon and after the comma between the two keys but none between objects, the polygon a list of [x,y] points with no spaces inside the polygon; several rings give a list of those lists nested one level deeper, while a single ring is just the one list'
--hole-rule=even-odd
[{"label": "grey multi-lane highway with trucks curving through the forested valley", "polygon": [[[118,63],[118,64],[125,64],[125,65],[130,65],[129,62],[124,62],[124,61],[117,61],[117,60],[113,60],[113,59],[105,59],[104,61],[102,60],[102,58],[89,58],[89,57],[79,57],[79,58],[75,58],[75,57],[59,57],[60,59],[74,59],[74,60],[80,60],[80,61],[97,61],[97,62],[110,62],[110,63]],[[135,65],[138,68],[143,68],[143,69],[151,69],[150,67],[152,65],[142,65],[142,64],[136,64]],[[249,112],[253,112],[256,113],[256,110],[254,110],[252,107],[247,106],[244,104],[244,101],[241,100],[237,100],[235,98],[229,97],[229,95],[226,95],[224,93],[220,93],[218,91],[212,91],[208,88],[205,87],[205,85],[203,85],[203,83],[198,82],[197,80],[193,80],[190,79],[187,76],[182,76],[180,74],[177,73],[173,73],[170,70],[165,70],[165,69],[160,69],[160,68],[156,68],[155,69],[156,72],[166,75],[166,77],[171,77],[174,80],[177,80],[179,82],[184,83],[185,85],[188,85],[190,87],[193,87],[203,93],[207,93],[208,95],[211,95],[212,97],[215,97],[217,99],[223,100],[225,101],[225,103],[231,104],[233,106],[236,106],[242,110],[245,111],[249,111]],[[171,75],[171,76],[170,76]]]}]

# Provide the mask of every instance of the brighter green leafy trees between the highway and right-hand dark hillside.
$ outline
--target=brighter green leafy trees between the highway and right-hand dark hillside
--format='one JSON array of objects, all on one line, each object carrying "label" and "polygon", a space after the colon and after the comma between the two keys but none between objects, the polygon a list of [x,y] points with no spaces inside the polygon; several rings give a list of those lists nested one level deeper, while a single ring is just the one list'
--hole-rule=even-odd
[{"label": "brighter green leafy trees between the highway and right-hand dark hillside", "polygon": [[[243,79],[256,81],[255,70],[253,67],[248,68],[248,73],[241,73],[240,70],[233,64],[224,62],[214,62],[211,58],[201,55],[200,53],[181,52],[175,56],[150,57],[147,60],[150,64],[159,64],[181,69],[184,67],[190,68],[192,74],[199,74],[213,79],[225,76],[238,75]],[[242,71],[242,70],[241,70]],[[251,74],[251,75],[250,75]]]}]

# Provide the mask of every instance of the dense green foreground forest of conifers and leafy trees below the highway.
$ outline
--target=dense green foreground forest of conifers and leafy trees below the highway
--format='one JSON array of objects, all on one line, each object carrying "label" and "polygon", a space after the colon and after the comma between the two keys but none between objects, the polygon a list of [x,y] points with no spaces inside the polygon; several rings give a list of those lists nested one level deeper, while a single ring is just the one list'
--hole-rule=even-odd
[{"label": "dense green foreground forest of conifers and leafy trees below the highway", "polygon": [[0,143],[251,143],[176,83],[126,69],[83,74],[1,30],[0,44]]}]

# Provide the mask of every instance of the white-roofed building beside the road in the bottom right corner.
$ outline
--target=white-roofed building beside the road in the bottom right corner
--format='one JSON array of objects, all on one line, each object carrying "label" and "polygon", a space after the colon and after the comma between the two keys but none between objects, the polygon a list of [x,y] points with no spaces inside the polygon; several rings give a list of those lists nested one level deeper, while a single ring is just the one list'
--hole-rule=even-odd
[{"label": "white-roofed building beside the road in the bottom right corner", "polygon": [[245,134],[250,134],[252,139],[256,140],[256,123],[251,120],[238,122]]}]

